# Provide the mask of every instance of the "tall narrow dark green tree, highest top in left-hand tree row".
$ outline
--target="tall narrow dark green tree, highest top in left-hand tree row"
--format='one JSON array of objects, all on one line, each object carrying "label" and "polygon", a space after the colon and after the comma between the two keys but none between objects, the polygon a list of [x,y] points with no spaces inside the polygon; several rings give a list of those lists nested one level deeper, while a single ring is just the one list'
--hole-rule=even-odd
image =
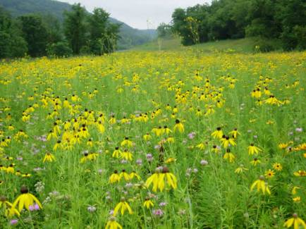
[{"label": "tall narrow dark green tree, highest top in left-hand tree row", "polygon": [[80,49],[85,45],[85,8],[74,4],[72,11],[64,13],[64,32],[73,54],[80,54]]}]

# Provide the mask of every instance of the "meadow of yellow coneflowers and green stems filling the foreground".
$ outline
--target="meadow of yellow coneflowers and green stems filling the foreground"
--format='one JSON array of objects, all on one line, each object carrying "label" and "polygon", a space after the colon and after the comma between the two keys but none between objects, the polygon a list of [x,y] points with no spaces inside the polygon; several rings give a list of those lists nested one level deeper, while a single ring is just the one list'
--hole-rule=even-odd
[{"label": "meadow of yellow coneflowers and green stems filling the foreground", "polygon": [[306,52],[0,63],[0,228],[306,228]]}]

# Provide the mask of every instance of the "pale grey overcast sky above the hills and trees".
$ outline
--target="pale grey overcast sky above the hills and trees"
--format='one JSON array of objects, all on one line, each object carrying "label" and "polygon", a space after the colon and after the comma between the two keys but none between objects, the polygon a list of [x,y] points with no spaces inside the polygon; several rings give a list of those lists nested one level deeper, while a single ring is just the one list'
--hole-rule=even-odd
[{"label": "pale grey overcast sky above the hills and trees", "polygon": [[70,4],[80,2],[87,11],[102,7],[112,18],[137,29],[156,28],[159,23],[169,23],[175,8],[204,4],[210,0],[60,0]]}]

